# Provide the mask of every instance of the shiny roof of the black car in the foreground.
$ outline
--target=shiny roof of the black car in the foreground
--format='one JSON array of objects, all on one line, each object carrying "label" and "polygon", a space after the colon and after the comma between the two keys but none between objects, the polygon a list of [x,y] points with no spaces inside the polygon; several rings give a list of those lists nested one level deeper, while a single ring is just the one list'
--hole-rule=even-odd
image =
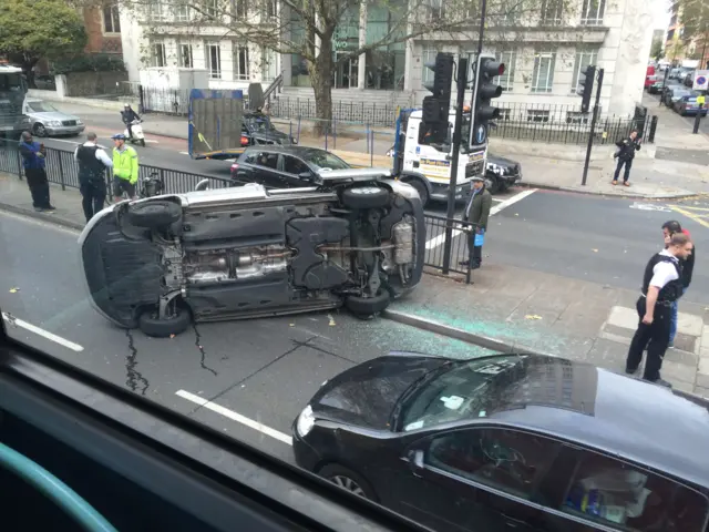
[{"label": "shiny roof of the black car in the foreground", "polygon": [[584,362],[528,355],[524,365],[493,387],[497,405],[486,406],[487,420],[558,436],[709,488],[709,403]]}]

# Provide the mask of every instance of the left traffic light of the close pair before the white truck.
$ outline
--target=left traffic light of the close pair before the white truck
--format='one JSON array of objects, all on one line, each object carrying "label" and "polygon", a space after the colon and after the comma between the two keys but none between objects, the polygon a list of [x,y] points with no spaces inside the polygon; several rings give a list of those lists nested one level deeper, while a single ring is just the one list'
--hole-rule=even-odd
[{"label": "left traffic light of the close pair before the white truck", "polygon": [[453,83],[453,54],[438,53],[434,63],[424,66],[433,71],[433,83],[424,83],[431,95],[423,99],[419,144],[443,143],[448,137],[448,115]]}]

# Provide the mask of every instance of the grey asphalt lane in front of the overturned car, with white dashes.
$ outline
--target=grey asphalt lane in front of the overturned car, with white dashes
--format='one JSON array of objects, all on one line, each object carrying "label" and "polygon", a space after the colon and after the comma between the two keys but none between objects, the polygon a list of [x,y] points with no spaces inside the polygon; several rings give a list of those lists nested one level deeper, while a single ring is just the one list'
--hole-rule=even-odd
[{"label": "grey asphalt lane in front of the overturned car, with white dashes", "polygon": [[0,307],[11,315],[10,336],[288,461],[290,424],[326,379],[392,349],[456,358],[489,352],[338,311],[203,324],[172,339],[148,338],[90,307],[76,237],[0,213]]}]

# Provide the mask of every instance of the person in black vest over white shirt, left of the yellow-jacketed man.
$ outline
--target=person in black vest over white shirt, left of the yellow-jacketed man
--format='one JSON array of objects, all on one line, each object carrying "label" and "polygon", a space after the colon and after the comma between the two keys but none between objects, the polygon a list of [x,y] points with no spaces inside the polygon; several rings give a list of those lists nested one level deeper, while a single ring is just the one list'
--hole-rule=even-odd
[{"label": "person in black vest over white shirt, left of the yellow-jacketed man", "polygon": [[88,133],[86,142],[76,146],[74,158],[79,162],[79,192],[81,206],[84,209],[86,223],[103,208],[106,201],[105,168],[113,166],[106,152],[96,145],[96,134]]}]

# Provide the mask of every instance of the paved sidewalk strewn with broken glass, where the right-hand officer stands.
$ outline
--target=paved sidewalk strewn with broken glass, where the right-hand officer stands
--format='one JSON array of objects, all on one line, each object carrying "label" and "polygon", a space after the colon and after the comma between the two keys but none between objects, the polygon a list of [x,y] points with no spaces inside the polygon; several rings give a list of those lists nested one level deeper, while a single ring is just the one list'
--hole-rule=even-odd
[{"label": "paved sidewalk strewn with broken glass, where the right-hand officer stands", "polygon": [[[638,293],[487,263],[473,285],[429,275],[387,317],[500,351],[534,351],[623,372]],[[680,303],[662,378],[709,396],[709,308]],[[640,372],[641,375],[641,372]]]}]

